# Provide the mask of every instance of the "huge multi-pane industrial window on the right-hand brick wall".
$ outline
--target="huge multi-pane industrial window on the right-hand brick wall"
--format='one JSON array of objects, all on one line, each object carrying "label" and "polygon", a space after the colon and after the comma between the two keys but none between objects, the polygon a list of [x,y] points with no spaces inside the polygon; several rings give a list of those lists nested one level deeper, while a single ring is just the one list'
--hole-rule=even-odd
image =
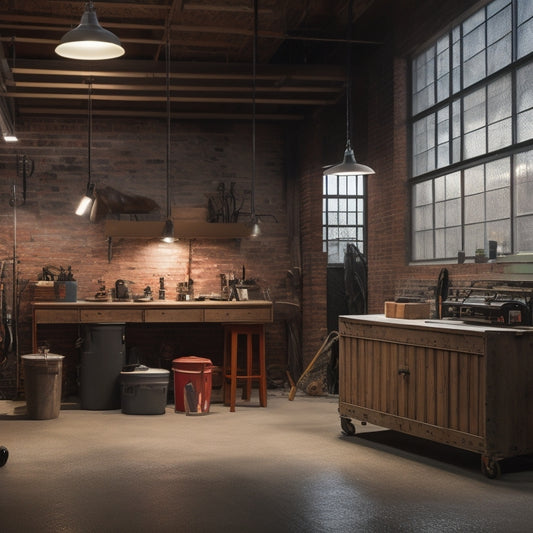
[{"label": "huge multi-pane industrial window on the right-hand brick wall", "polygon": [[411,67],[413,260],[533,250],[533,1],[488,2]]}]

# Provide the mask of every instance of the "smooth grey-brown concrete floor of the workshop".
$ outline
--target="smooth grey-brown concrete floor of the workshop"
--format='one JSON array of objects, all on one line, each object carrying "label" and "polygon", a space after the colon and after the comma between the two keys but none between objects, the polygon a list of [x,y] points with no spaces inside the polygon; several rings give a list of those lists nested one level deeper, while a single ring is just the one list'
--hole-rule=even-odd
[{"label": "smooth grey-brown concrete floor of the workshop", "polygon": [[335,396],[196,417],[24,411],[0,402],[4,533],[533,530],[533,458],[489,480],[476,454],[372,426],[347,437]]}]

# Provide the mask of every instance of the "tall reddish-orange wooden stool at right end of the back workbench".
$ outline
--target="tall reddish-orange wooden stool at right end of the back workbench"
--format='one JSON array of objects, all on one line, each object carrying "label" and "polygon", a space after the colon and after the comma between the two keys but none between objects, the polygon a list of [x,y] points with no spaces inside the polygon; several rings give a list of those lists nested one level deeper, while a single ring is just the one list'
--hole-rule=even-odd
[{"label": "tall reddish-orange wooden stool at right end of the back workbench", "polygon": [[[246,338],[244,372],[239,373],[237,358],[239,354],[239,337]],[[257,336],[258,349],[254,354],[254,336]],[[254,355],[255,360],[254,360]],[[241,371],[242,372],[242,371]],[[224,327],[224,403],[235,411],[237,381],[245,381],[242,398],[249,400],[252,393],[252,382],[259,382],[259,405],[266,407],[266,362],[265,362],[265,331],[262,324],[231,324]],[[228,383],[229,381],[229,383]]]}]

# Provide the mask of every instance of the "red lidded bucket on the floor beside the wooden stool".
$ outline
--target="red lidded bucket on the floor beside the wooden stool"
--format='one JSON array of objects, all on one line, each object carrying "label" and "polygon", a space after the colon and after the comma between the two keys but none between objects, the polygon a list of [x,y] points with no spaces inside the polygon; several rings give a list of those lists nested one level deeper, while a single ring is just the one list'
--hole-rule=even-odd
[{"label": "red lidded bucket on the floor beside the wooden stool", "polygon": [[190,355],[172,361],[175,411],[190,415],[207,414],[211,404],[211,369],[205,357]]}]

